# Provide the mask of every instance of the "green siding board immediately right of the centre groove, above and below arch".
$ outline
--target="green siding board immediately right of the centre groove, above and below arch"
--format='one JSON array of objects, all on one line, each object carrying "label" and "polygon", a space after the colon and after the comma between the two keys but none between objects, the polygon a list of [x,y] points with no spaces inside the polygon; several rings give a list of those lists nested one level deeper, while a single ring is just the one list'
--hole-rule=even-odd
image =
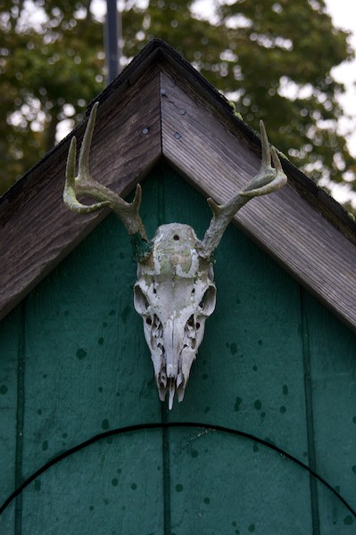
[{"label": "green siding board immediately right of the centre groove, above and below arch", "polygon": [[[171,173],[164,192],[166,222],[202,237],[210,219],[202,196]],[[233,226],[214,271],[217,307],[169,421],[251,433],[308,463],[299,285]],[[309,473],[292,461],[225,433],[169,436],[171,531],[312,532]]]}]

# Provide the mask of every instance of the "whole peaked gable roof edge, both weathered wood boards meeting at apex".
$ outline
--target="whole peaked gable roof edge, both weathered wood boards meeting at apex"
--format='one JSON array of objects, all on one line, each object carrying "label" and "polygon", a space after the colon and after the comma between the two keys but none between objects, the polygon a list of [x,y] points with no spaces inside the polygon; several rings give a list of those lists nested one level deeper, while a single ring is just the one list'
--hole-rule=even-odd
[{"label": "whole peaked gable roof edge, both weathered wood boards meeting at apex", "polygon": [[[160,40],[145,46],[95,101],[91,172],[123,196],[161,158],[216,202],[227,202],[260,168],[256,133]],[[108,213],[79,218],[62,202],[70,138],[74,133],[80,143],[84,129],[82,123],[0,200],[0,317]],[[356,225],[289,161],[282,164],[288,184],[249,202],[234,222],[356,330]]]}]

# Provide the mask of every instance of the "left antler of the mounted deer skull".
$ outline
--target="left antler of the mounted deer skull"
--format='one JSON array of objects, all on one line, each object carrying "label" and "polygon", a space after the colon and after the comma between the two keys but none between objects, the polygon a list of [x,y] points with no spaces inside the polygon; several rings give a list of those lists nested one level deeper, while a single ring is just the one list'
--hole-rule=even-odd
[{"label": "left antler of the mounted deer skull", "polygon": [[[79,214],[88,214],[95,210],[100,210],[104,206],[110,209],[122,220],[129,235],[138,235],[148,243],[145,233],[145,226],[139,216],[138,210],[141,204],[141,186],[137,184],[135,198],[133,202],[124,201],[120,195],[112,192],[106,186],[95,182],[89,172],[89,152],[95,127],[96,109],[99,103],[95,103],[87,122],[87,129],[84,134],[83,143],[79,152],[79,170],[76,177],[76,154],[77,139],[72,137],[70,151],[68,153],[67,169],[65,174],[65,185],[63,191],[63,201],[72,211]],[[87,195],[95,199],[94,204],[87,206],[78,201],[77,196]]]}]

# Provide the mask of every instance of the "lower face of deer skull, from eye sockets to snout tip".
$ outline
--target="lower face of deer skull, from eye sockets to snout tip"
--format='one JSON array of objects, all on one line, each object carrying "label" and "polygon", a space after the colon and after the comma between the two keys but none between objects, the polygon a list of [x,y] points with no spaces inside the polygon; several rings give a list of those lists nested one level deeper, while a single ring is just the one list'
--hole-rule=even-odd
[{"label": "lower face of deer skull, from eye sockets to snout tip", "polygon": [[216,288],[210,280],[205,284],[192,281],[179,288],[179,300],[165,300],[167,296],[160,290],[153,292],[152,287],[137,282],[134,304],[144,320],[160,399],[169,392],[171,408],[175,394],[178,401],[184,398],[190,369],[203,341],[205,320],[215,309]]}]

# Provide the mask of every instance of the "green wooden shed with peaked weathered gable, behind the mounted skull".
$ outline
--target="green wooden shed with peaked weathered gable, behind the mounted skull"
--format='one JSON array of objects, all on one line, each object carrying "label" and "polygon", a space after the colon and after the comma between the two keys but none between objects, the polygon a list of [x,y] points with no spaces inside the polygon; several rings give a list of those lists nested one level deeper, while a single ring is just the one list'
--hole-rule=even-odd
[{"label": "green wooden shed with peaked weathered gable, behind the mounted skull", "polygon": [[[260,167],[259,136],[161,41],[95,100],[91,173],[128,199],[141,184],[148,235],[179,222],[202,237],[206,198]],[[281,158],[287,185],[219,244],[216,309],[168,410],[127,231],[62,202],[69,145],[0,202],[0,532],[355,533],[353,220]]]}]

